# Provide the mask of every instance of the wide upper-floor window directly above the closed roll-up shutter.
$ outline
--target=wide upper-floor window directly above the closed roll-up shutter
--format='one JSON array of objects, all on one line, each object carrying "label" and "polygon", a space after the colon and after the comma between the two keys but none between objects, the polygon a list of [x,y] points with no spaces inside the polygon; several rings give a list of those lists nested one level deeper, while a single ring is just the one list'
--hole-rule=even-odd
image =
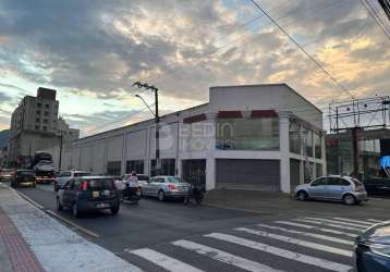
[{"label": "wide upper-floor window directly above the closed roll-up shutter", "polygon": [[279,119],[219,119],[216,148],[223,150],[279,150]]}]

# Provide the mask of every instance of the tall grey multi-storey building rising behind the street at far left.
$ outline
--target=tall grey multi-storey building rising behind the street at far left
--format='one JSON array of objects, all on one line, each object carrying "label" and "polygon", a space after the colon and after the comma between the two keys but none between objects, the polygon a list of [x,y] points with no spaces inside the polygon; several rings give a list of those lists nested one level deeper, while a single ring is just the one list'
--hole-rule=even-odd
[{"label": "tall grey multi-storey building rising behind the street at far left", "polygon": [[59,145],[64,132],[76,136],[72,139],[78,138],[80,132],[59,119],[56,95],[56,90],[40,87],[36,97],[25,96],[12,113],[8,151],[12,164],[25,165],[35,151]]}]

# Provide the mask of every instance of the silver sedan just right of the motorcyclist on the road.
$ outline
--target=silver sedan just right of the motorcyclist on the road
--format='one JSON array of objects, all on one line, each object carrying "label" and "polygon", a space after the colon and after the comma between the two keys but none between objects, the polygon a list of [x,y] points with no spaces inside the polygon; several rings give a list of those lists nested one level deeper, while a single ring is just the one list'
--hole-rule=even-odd
[{"label": "silver sedan just right of the motorcyclist on the road", "polygon": [[142,185],[142,195],[157,197],[160,201],[167,198],[184,198],[188,195],[191,184],[178,176],[153,176]]}]

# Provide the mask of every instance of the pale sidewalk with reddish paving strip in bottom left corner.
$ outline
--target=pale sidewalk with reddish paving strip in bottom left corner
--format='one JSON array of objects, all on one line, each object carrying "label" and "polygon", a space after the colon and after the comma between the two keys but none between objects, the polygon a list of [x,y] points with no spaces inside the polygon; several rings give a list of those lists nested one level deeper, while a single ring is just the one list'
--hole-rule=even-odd
[{"label": "pale sidewalk with reddish paving strip in bottom left corner", "polygon": [[141,271],[0,183],[0,271]]}]

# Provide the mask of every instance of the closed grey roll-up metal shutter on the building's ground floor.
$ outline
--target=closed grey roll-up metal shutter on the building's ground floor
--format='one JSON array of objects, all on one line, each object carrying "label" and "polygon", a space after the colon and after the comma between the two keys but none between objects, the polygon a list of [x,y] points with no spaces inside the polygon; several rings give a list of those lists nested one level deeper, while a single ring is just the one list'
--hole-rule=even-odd
[{"label": "closed grey roll-up metal shutter on the building's ground floor", "polygon": [[280,190],[280,161],[217,159],[217,188]]}]

